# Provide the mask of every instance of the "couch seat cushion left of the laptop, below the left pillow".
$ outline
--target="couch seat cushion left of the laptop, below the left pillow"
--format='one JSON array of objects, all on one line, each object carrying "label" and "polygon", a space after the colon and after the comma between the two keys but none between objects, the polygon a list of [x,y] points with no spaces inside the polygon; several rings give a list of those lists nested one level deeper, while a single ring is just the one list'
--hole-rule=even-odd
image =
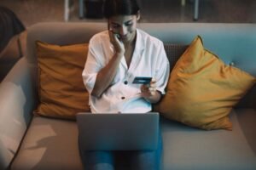
[{"label": "couch seat cushion left of the laptop, below the left pillow", "polygon": [[11,169],[83,169],[76,122],[35,116]]}]

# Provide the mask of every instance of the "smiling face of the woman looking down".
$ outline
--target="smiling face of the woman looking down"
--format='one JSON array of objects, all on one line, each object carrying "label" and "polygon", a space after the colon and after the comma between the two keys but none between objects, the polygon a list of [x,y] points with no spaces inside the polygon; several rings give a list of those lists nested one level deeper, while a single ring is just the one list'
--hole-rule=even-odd
[{"label": "smiling face of the woman looking down", "polygon": [[136,37],[138,19],[139,14],[113,16],[108,20],[109,30],[118,34],[122,42],[133,42]]}]

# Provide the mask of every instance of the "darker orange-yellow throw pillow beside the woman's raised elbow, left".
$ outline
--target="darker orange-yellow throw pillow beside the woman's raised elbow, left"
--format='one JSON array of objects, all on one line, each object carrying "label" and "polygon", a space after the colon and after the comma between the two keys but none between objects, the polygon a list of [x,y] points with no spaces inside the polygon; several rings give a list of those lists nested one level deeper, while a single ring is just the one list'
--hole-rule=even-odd
[{"label": "darker orange-yellow throw pillow beside the woman's raised elbow, left", "polygon": [[82,71],[88,44],[67,46],[37,42],[40,116],[75,119],[77,112],[90,111],[89,94]]}]

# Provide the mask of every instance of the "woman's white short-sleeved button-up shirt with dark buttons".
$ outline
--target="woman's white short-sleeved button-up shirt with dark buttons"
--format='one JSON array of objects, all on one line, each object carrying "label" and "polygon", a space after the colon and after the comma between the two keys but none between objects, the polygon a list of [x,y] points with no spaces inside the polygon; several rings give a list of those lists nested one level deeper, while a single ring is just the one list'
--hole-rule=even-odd
[{"label": "woman's white short-sleeved button-up shirt with dark buttons", "polygon": [[[90,39],[89,52],[82,73],[85,88],[91,94],[96,76],[113,57],[114,48],[108,31],[97,33]],[[145,113],[151,104],[141,97],[141,84],[132,84],[135,77],[154,77],[157,90],[165,94],[169,77],[169,61],[163,42],[137,29],[137,40],[128,69],[123,57],[111,86],[100,98],[90,95],[92,113]]]}]

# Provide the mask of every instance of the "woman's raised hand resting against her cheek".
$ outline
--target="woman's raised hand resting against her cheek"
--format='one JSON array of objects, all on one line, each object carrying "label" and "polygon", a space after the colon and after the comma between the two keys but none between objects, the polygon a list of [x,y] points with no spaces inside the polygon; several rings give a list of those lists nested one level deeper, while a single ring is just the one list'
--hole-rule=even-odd
[{"label": "woman's raised hand resting against her cheek", "polygon": [[118,34],[113,33],[113,31],[109,30],[108,35],[110,38],[110,42],[113,44],[113,48],[115,49],[115,52],[117,54],[125,54],[125,45],[124,43],[119,39]]}]

